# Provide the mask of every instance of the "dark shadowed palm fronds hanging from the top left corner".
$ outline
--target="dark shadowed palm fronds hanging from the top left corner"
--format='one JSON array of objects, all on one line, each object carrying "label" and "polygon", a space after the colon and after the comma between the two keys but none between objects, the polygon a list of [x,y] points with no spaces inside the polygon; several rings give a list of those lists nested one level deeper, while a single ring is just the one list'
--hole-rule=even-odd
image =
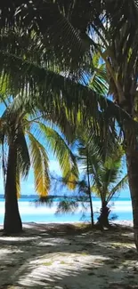
[{"label": "dark shadowed palm fronds hanging from the top left corner", "polygon": [[[100,9],[100,5],[96,5]],[[93,5],[80,1],[37,1],[33,3],[17,1],[0,5],[2,18],[0,25],[12,31],[16,28],[22,35],[28,31],[37,32],[41,41],[53,52],[58,60],[70,68],[78,68],[91,56],[89,42],[85,37],[87,24],[93,16]],[[5,13],[7,12],[7,13]],[[84,19],[85,15],[85,19]],[[3,29],[4,30],[4,29]],[[91,48],[92,51],[93,47]],[[82,66],[83,67],[83,66]]]}]

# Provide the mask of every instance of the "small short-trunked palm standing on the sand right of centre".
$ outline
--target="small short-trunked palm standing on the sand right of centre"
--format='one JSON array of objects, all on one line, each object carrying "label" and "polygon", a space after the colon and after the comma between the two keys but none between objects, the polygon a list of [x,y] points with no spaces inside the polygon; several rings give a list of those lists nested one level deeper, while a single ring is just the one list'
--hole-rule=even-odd
[{"label": "small short-trunked palm standing on the sand right of centre", "polygon": [[93,163],[93,186],[92,192],[101,198],[101,214],[98,223],[101,227],[109,227],[110,208],[109,203],[112,197],[120,193],[127,183],[127,175],[123,176],[120,172],[121,159],[108,159],[101,162],[99,167]]}]

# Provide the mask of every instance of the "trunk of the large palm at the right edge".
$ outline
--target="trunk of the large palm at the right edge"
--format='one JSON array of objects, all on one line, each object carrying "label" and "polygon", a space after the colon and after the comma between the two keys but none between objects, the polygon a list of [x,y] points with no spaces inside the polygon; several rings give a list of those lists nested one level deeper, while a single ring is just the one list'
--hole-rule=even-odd
[{"label": "trunk of the large palm at the right edge", "polygon": [[138,148],[126,149],[126,165],[133,206],[134,242],[138,251]]}]

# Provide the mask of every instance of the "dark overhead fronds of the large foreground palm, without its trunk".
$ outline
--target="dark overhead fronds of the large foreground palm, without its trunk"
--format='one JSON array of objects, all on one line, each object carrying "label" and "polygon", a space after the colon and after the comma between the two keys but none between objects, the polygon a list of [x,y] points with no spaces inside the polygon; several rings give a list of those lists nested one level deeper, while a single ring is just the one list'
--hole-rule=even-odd
[{"label": "dark overhead fronds of the large foreground palm, without its trunk", "polygon": [[[109,1],[88,2],[85,6],[82,1],[69,1],[68,4],[65,4],[64,1],[42,2],[43,11],[45,13],[52,12],[49,13],[49,20],[47,18],[47,24],[44,26],[45,32],[42,28],[44,15],[41,15],[42,9],[40,12],[37,2],[22,7],[20,4],[21,2],[18,3],[18,1],[14,5],[12,4],[12,9],[7,14],[7,23],[9,15],[13,16],[14,14],[12,28],[7,24],[6,29],[1,29],[2,87],[4,82],[6,85],[8,84],[12,94],[26,90],[25,102],[28,101],[28,95],[31,107],[39,108],[42,111],[46,111],[48,108],[51,113],[54,111],[55,118],[61,118],[61,106],[66,108],[66,116],[74,125],[77,123],[77,117],[80,116],[82,123],[88,120],[93,132],[96,132],[98,136],[101,135],[102,138],[107,135],[107,131],[113,132],[115,120],[118,121],[121,129],[124,129],[127,123],[131,127],[133,124],[134,130],[135,127],[137,129],[137,123],[126,113],[127,109],[125,111],[104,98],[101,93],[101,85],[98,91],[95,91],[91,85],[89,88],[85,86],[85,76],[95,77],[92,58],[93,52],[98,51],[105,62],[103,64],[104,76],[107,73],[110,93],[114,94],[115,98],[117,94],[117,98],[121,97],[121,101],[124,100],[127,89],[122,91],[120,84],[126,79],[126,75],[123,74],[124,72],[119,72],[123,70],[118,69],[124,69],[125,62],[121,61],[120,65],[119,52],[127,51],[127,68],[135,69],[132,48],[137,47],[135,40],[137,38],[134,38],[133,47],[132,42],[127,41],[126,45],[124,38],[122,39],[123,31],[126,30],[127,35],[128,31],[130,32],[130,29],[136,25],[134,21],[131,21],[130,24],[125,21],[132,15],[132,12],[137,11],[134,1],[126,5],[126,9],[125,1],[122,1],[118,17],[116,13],[114,14],[118,10],[119,3],[117,1],[112,1],[114,12],[111,12],[112,7]],[[17,12],[19,6],[21,8]],[[67,6],[70,7],[69,13]],[[78,14],[80,7],[81,12]],[[52,8],[54,9],[52,10]],[[2,7],[2,15],[4,9],[6,11],[6,6]],[[32,9],[33,13],[31,14]],[[80,24],[80,18],[84,19],[82,12],[83,14],[87,13],[85,13],[85,20]],[[22,16],[24,17],[23,21],[20,21]],[[117,18],[121,20],[118,21],[119,24],[121,22],[118,28],[120,41],[117,37]],[[3,17],[2,19],[4,20]],[[1,24],[4,27],[4,21]],[[57,27],[63,33],[57,34]],[[25,41],[20,41],[21,37]],[[9,39],[11,40],[10,44]],[[67,44],[69,49],[67,49]],[[26,47],[28,47],[28,51]],[[76,48],[77,53],[74,51]],[[118,52],[118,57],[115,52]],[[129,69],[132,79],[134,79],[133,71]],[[120,77],[123,77],[122,80]],[[105,85],[102,80],[101,84],[102,87]],[[127,80],[126,84],[128,84]],[[133,85],[133,87],[132,85],[129,87],[135,92],[136,84]]]}]

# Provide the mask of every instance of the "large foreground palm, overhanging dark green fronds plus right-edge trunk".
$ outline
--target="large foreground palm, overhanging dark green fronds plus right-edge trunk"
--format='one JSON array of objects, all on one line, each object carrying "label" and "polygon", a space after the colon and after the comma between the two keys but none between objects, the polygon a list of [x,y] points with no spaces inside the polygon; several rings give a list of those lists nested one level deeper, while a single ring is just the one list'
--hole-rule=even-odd
[{"label": "large foreground palm, overhanging dark green fronds plus right-edge trunk", "polygon": [[[107,151],[119,134],[138,248],[137,1],[13,0],[2,1],[0,10],[1,93],[6,87],[11,95],[24,95],[29,113],[49,111],[62,132],[71,132],[70,142],[78,123],[85,125],[86,138],[91,130]],[[95,52],[100,75],[102,70],[96,89]],[[106,84],[114,101],[103,95]]]}]

